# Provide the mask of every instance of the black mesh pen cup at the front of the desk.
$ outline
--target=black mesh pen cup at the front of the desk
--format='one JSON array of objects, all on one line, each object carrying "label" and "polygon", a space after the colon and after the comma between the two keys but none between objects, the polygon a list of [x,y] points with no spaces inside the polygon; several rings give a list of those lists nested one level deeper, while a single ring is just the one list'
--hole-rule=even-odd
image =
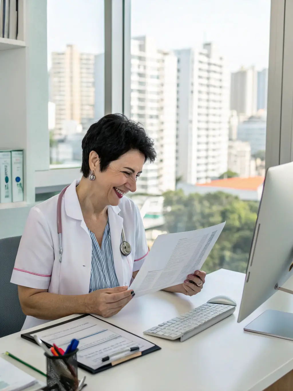
[{"label": "black mesh pen cup at the front of the desk", "polygon": [[76,391],[79,386],[77,377],[77,350],[63,356],[49,356],[47,359],[47,386],[52,391]]}]

